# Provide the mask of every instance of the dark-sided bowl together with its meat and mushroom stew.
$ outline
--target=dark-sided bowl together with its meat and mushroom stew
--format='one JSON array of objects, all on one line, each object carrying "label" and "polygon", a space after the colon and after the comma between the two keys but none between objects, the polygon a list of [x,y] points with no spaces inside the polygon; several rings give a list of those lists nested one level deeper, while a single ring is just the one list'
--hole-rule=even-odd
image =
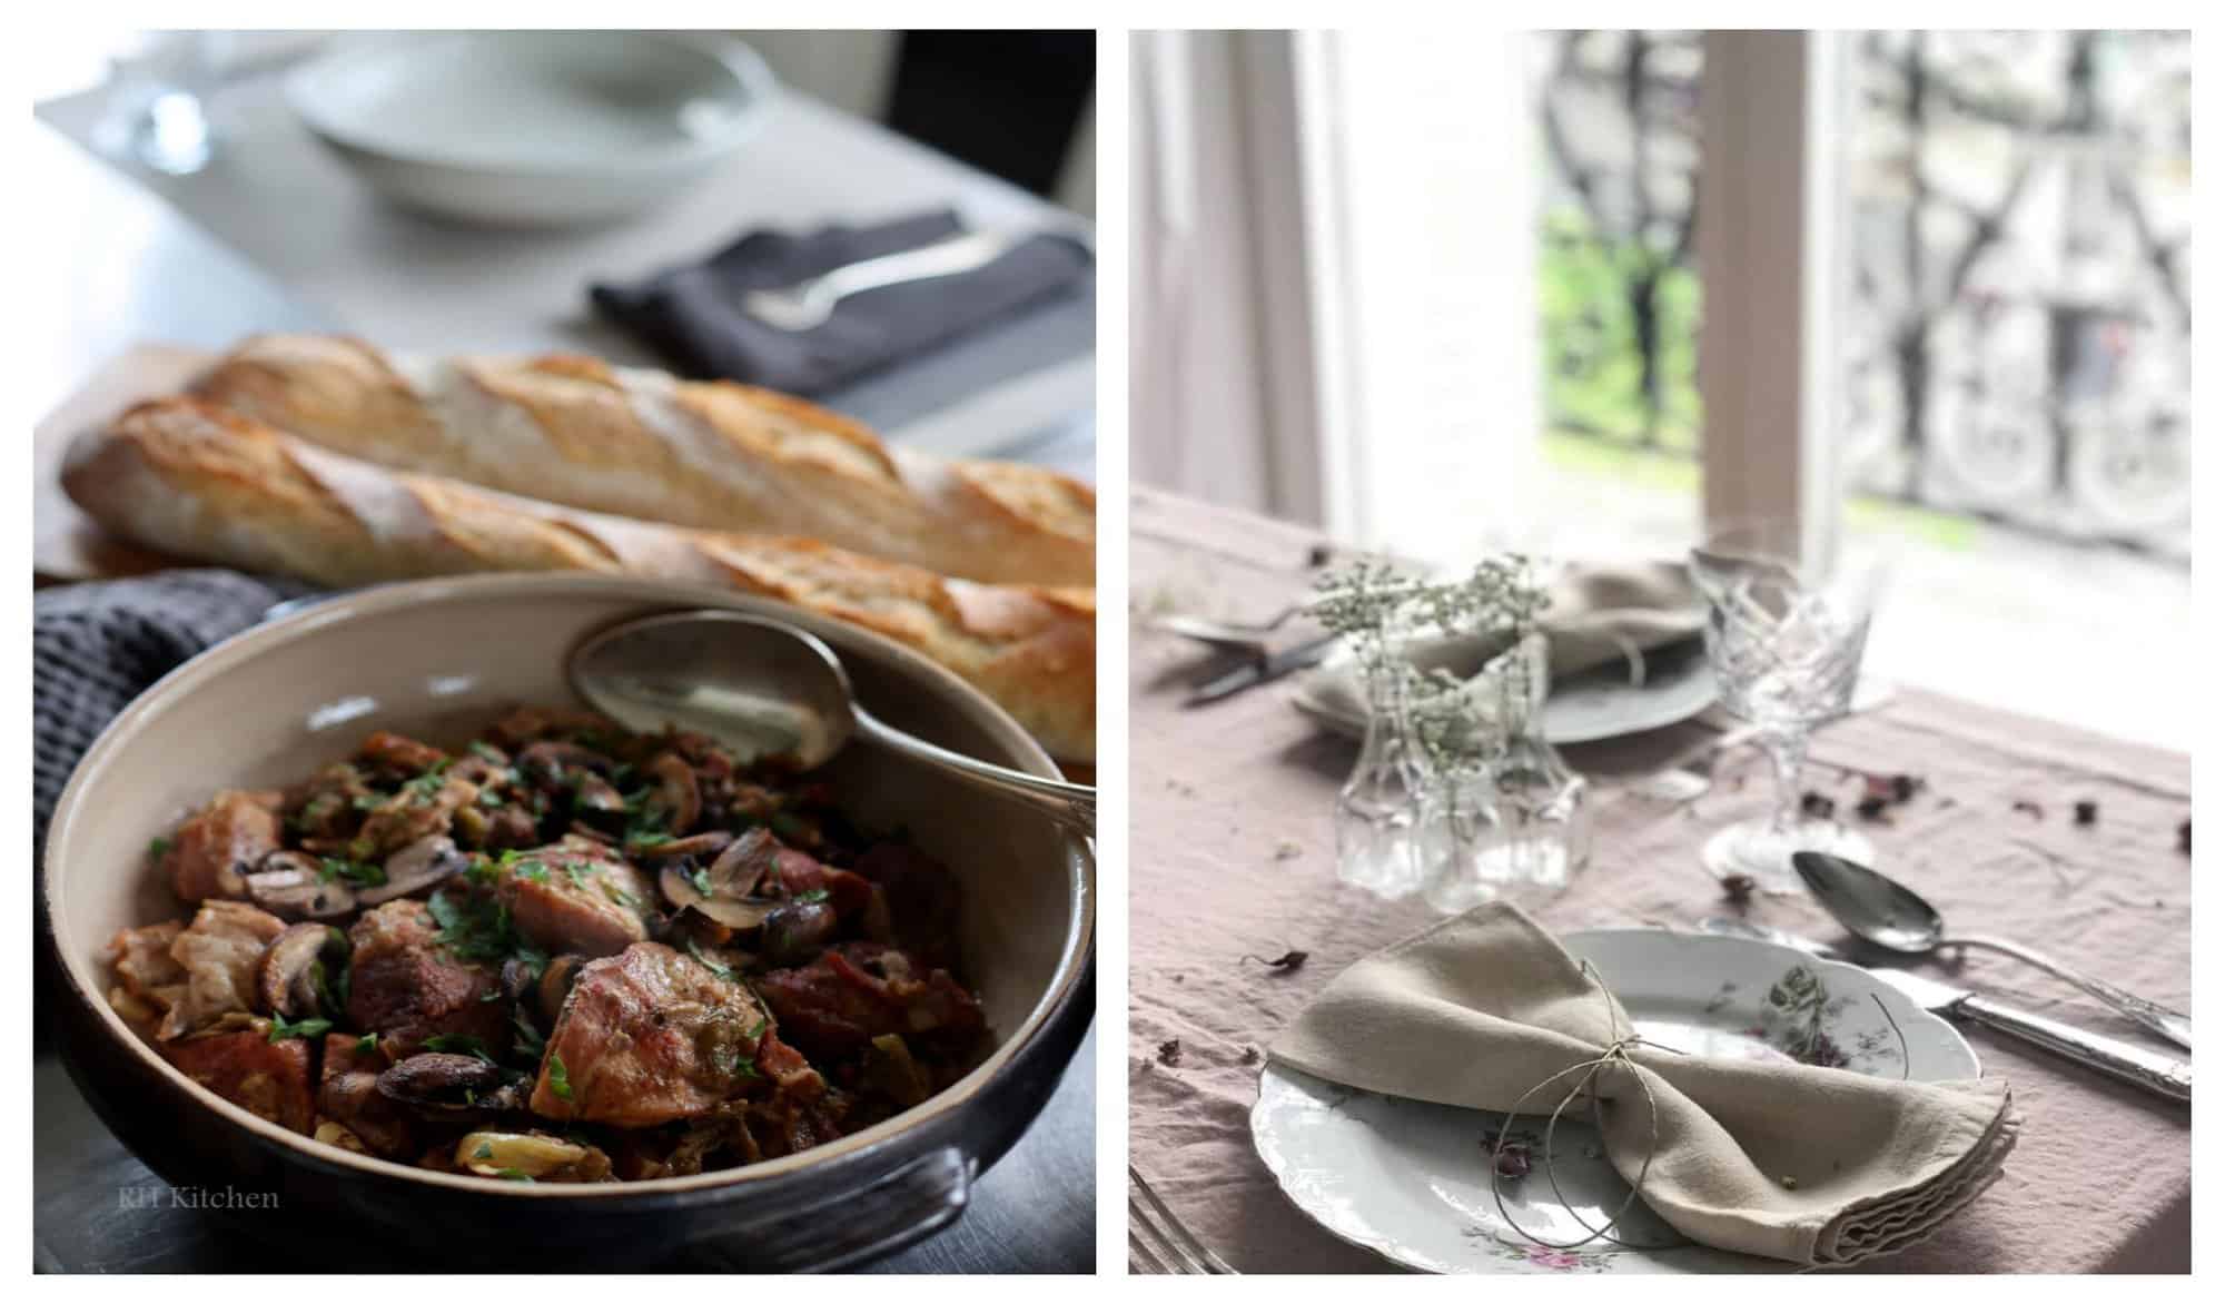
[{"label": "dark-sided bowl together with its meat and mushroom stew", "polygon": [[102,1119],[303,1244],[427,1264],[828,1268],[959,1217],[1088,1024],[1090,850],[866,745],[743,763],[572,694],[585,636],[694,607],[805,628],[870,710],[1057,774],[952,674],[770,601],[332,599],[162,679],[62,794],[44,939]]}]

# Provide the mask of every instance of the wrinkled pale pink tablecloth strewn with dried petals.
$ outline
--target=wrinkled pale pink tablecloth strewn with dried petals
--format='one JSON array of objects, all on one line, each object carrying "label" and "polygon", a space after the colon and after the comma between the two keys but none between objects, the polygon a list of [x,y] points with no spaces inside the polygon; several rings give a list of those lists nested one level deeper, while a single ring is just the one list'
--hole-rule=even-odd
[{"label": "wrinkled pale pink tablecloth strewn with dried petals", "polygon": [[[1139,490],[1133,607],[1266,614],[1306,592],[1311,532]],[[1902,590],[1902,601],[1920,601]],[[1130,848],[1128,1146],[1184,1224],[1246,1273],[1380,1271],[1386,1264],[1290,1206],[1253,1153],[1259,1048],[1337,970],[1435,915],[1335,879],[1328,810],[1355,748],[1262,688],[1186,708],[1195,645],[1137,621],[1130,654],[1135,832]],[[2069,688],[2067,688],[2069,690]],[[1589,774],[1631,774],[1704,725],[1575,748]],[[1851,808],[1838,768],[1916,774],[1925,790],[1865,826],[1880,861],[1951,923],[2045,946],[2136,992],[2187,1008],[2192,814],[2187,757],[1902,690],[1816,739],[1807,786]],[[2038,814],[2018,803],[2038,806]],[[2089,828],[2076,801],[2098,803]],[[1731,752],[1715,790],[1675,810],[1593,792],[1591,866],[1537,915],[1553,928],[1691,926],[1729,912],[1700,868],[1707,832],[1764,810],[1767,763]],[[1820,939],[1838,928],[1804,897],[1756,899],[1749,917]],[[1295,972],[1242,957],[1306,950]],[[1927,972],[2029,1010],[2143,1041],[2107,1008],[1991,955]],[[1987,1075],[2016,1090],[2025,1126],[2007,1177],[1936,1239],[1885,1259],[1911,1273],[2187,1271],[2189,1110],[1965,1028]],[[1179,1050],[1164,1044],[1177,1041]],[[2143,1041],[2147,1044],[2147,1041]],[[2160,1046],[2160,1044],[2158,1044]],[[1170,1064],[1168,1064],[1170,1059]]]}]

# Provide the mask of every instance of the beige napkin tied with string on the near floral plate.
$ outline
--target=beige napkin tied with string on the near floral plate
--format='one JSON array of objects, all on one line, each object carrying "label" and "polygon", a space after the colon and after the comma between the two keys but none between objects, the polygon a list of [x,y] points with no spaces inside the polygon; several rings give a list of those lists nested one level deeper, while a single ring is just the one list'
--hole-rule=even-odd
[{"label": "beige napkin tied with string on the near floral plate", "polygon": [[[1331,979],[1268,1055],[1382,1095],[1546,1115],[1580,1075],[1533,1088],[1624,1035],[1629,1017],[1591,972],[1529,915],[1491,903]],[[2000,1177],[2016,1144],[1998,1077],[1891,1081],[1635,1046],[1598,1099],[1609,1162],[1669,1226],[1811,1266],[1920,1242]]]}]

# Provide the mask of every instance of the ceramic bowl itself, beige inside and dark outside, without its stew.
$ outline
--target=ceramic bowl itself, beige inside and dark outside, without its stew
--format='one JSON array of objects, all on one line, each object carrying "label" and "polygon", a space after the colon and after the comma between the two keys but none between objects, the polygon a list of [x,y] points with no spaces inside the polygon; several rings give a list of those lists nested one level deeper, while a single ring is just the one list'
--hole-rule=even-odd
[{"label": "ceramic bowl itself, beige inside and dark outside, without its stew", "polygon": [[[712,1237],[763,1266],[837,1266],[959,1217],[970,1182],[1041,1110],[1088,1024],[1095,866],[1081,839],[1037,812],[863,745],[823,772],[866,828],[908,828],[959,875],[963,975],[999,1044],[926,1104],[801,1155],[601,1186],[409,1168],[320,1146],[216,1097],[136,1037],[102,995],[107,941],[182,915],[147,868],[149,839],[218,788],[294,781],[374,728],[456,741],[512,703],[581,705],[563,674],[574,643],[688,607],[792,621],[841,654],[859,699],[883,719],[1057,774],[1008,714],[919,654],[716,590],[469,576],[363,590],[271,621],[134,701],[78,763],[49,826],[42,937],[62,990],[47,999],[60,1006],[71,1075],[118,1137],[171,1184],[274,1193],[287,1235],[312,1244],[345,1235],[358,1248],[392,1244],[454,1266],[610,1268]],[[461,1226],[472,1235],[458,1237]]]}]

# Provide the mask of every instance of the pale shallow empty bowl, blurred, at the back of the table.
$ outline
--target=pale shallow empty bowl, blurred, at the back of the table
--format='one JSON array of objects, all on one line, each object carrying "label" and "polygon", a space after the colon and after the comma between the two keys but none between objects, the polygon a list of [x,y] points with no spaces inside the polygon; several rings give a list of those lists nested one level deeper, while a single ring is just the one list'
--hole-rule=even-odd
[{"label": "pale shallow empty bowl, blurred, at the back of the table", "polygon": [[643,211],[723,162],[774,96],[703,33],[434,31],[296,69],[300,122],[380,196],[438,218],[565,227]]}]

